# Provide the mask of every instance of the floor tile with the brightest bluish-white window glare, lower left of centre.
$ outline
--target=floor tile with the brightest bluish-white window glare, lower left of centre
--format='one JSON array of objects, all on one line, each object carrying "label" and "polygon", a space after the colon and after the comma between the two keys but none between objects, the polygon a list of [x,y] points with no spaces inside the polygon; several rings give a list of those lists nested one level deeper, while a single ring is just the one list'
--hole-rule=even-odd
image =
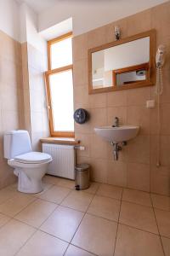
[{"label": "floor tile with the brightest bluish-white window glare, lower left of centre", "polygon": [[40,229],[65,241],[71,241],[82,217],[82,212],[67,207],[58,207]]}]

